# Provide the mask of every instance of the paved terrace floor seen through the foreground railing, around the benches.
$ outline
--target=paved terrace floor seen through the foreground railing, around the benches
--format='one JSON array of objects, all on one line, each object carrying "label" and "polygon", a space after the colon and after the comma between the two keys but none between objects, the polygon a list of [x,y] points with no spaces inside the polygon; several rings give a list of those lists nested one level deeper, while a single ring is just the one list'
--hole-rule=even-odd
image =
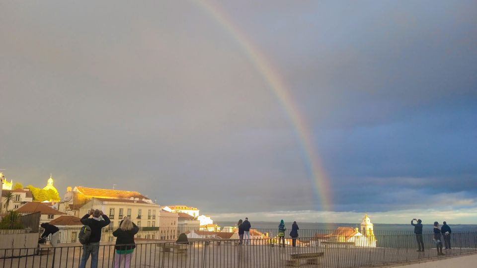
[{"label": "paved terrace floor seen through the foreground railing, around the benches", "polygon": [[[285,267],[286,260],[290,260],[296,253],[323,252],[320,265],[306,265],[301,267],[369,267],[383,264],[406,263],[416,260],[444,259],[452,256],[476,254],[476,247],[454,248],[446,251],[446,256],[438,257],[436,249],[428,248],[424,253],[416,252],[414,248],[358,248],[346,249],[341,246],[324,247],[290,246],[278,247],[265,244],[263,240],[254,241],[255,245],[235,245],[231,240],[219,241],[194,241],[184,245],[184,253],[164,252],[164,247],[174,247],[175,243],[141,241],[133,253],[131,267],[161,267],[161,268],[274,268]],[[219,245],[220,244],[220,245]],[[0,255],[19,256],[20,258],[0,259],[0,268],[64,268],[79,267],[82,253],[78,243],[62,244],[63,247],[48,251],[44,255],[36,255],[37,249],[2,250]],[[114,245],[101,244],[99,250],[98,267],[112,267]],[[303,263],[305,263],[303,261]],[[89,261],[86,265],[89,267]]]}]

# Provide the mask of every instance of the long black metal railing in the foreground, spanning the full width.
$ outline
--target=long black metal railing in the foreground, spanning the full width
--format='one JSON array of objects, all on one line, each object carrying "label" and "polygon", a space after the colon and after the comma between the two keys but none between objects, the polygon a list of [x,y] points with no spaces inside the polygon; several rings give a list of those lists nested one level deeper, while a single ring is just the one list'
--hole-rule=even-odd
[{"label": "long black metal railing in the foreground, spanning the full width", "polygon": [[[136,249],[130,260],[126,260],[131,267],[163,268],[274,268],[297,260],[317,266],[319,263],[325,268],[366,267],[442,258],[437,254],[433,238],[432,234],[422,235],[424,252],[416,252],[416,236],[410,234],[300,237],[296,247],[291,246],[290,238],[285,239],[284,247],[277,244],[276,238],[250,239],[243,243],[238,239],[200,239],[185,245],[136,239]],[[373,244],[373,241],[377,243]],[[244,245],[245,242],[249,245]],[[115,245],[102,243],[98,246],[98,267],[112,267],[119,261]],[[450,243],[452,249],[444,251],[446,256],[477,254],[477,232],[453,233]],[[57,248],[3,249],[0,250],[0,267],[79,267],[83,251],[82,246],[71,244],[60,244]],[[86,267],[90,261],[91,258]],[[124,265],[125,261],[120,261]]]}]

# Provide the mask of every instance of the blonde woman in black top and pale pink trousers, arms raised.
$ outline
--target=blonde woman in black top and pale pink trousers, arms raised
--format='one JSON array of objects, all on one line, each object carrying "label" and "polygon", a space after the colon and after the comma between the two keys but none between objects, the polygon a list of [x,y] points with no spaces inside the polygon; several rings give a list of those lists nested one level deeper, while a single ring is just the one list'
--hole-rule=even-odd
[{"label": "blonde woman in black top and pale pink trousers, arms raised", "polygon": [[[129,218],[121,221],[119,228],[113,232],[113,236],[117,237],[114,249],[114,268],[125,267],[131,265],[131,255],[136,248],[134,243],[134,235],[139,232],[139,227]],[[123,265],[124,264],[124,265]]]}]

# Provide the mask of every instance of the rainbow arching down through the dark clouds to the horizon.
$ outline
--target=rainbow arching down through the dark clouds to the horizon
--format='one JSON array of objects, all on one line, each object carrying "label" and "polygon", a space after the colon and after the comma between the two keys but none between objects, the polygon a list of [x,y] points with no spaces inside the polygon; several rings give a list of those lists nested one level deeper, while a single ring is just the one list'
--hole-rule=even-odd
[{"label": "rainbow arching down through the dark clouds to the horizon", "polygon": [[[294,127],[294,132],[300,142],[303,159],[315,188],[314,198],[316,208],[330,211],[331,196],[329,195],[329,184],[325,172],[321,167],[321,161],[315,153],[315,144],[313,142],[311,131],[305,118],[300,114],[298,108],[294,104],[290,90],[288,90],[285,82],[277,74],[277,71],[272,68],[272,65],[267,61],[265,55],[252,45],[252,42],[247,36],[240,31],[239,27],[236,27],[232,23],[232,20],[226,16],[225,12],[221,11],[219,6],[214,6],[206,0],[197,0],[193,2],[201,9],[205,10],[208,15],[217,21],[225,31],[238,42],[239,46],[248,56],[250,62],[263,75],[266,82],[269,84],[270,89],[277,96],[279,102],[284,107],[289,120]],[[317,201],[321,204],[320,207],[318,206]]]}]

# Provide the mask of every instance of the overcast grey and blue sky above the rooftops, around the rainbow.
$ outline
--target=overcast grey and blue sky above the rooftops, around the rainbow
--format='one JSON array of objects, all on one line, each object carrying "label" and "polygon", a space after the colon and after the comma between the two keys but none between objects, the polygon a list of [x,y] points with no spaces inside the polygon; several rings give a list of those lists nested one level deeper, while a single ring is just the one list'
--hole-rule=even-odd
[{"label": "overcast grey and blue sky above the rooftops, around the rainbow", "polygon": [[332,211],[237,36],[185,0],[1,0],[7,178],[216,219],[477,223],[476,1],[209,2],[287,85]]}]

